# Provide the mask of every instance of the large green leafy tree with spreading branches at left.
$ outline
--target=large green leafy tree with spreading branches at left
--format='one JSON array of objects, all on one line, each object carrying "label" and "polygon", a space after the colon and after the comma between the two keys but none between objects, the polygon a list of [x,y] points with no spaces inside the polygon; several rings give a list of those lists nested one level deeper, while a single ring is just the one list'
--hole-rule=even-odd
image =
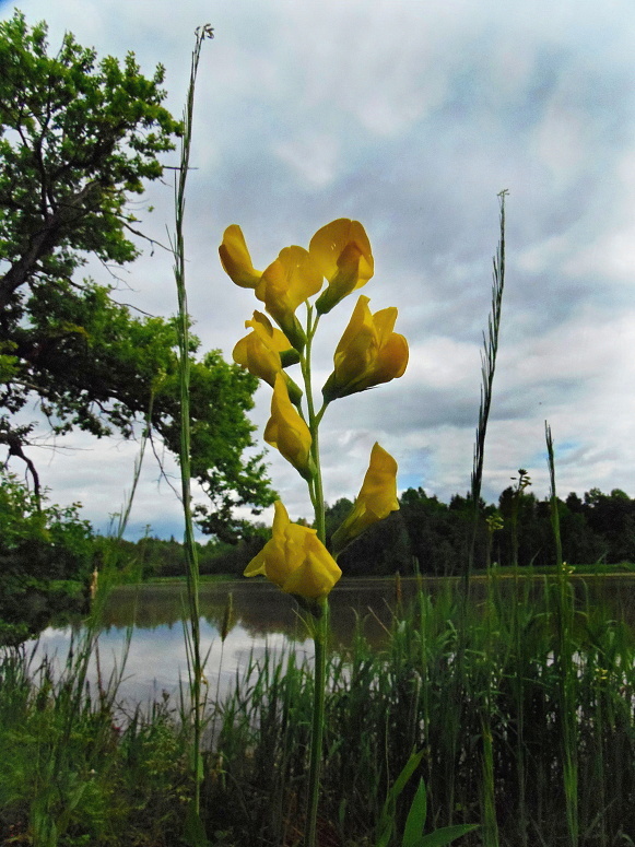
[{"label": "large green leafy tree with spreading branches at left", "polygon": [[[24,448],[33,398],[56,433],[152,432],[178,451],[176,331],[137,317],[111,285],[78,279],[89,256],[122,266],[139,255],[130,198],[162,176],[180,123],[162,105],[164,69],[141,74],[133,54],[97,61],[67,34],[49,55],[46,24],[0,23],[0,442]],[[226,534],[236,504],[271,501],[246,413],[256,380],[193,341],[192,472],[212,498],[200,517]],[[24,414],[24,413],[23,413]],[[235,529],[235,525],[233,525]]]}]

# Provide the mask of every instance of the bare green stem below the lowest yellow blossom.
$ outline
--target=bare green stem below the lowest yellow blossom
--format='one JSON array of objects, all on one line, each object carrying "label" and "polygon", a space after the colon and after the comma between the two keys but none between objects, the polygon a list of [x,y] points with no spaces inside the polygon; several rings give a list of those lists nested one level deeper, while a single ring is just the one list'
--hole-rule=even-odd
[{"label": "bare green stem below the lowest yellow blossom", "polygon": [[327,636],[329,630],[329,601],[320,603],[321,614],[315,620],[315,679],[313,725],[310,738],[310,764],[305,825],[305,847],[316,847],[317,812],[319,802],[320,765],[325,730],[325,693],[327,683]]}]

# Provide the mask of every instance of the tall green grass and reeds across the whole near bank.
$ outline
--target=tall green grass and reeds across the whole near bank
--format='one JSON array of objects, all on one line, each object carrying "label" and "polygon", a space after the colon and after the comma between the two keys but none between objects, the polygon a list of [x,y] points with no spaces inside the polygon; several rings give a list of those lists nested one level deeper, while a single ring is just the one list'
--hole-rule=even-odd
[{"label": "tall green grass and reeds across the whole near bank", "polygon": [[[564,589],[564,590],[563,590]],[[465,845],[632,845],[635,636],[568,584],[492,576],[399,600],[383,650],[360,622],[329,658],[322,847],[375,845],[387,791],[424,751],[396,832],[425,780],[428,828],[481,827]],[[25,845],[176,845],[192,792],[183,704],[121,715],[117,679],[86,682],[8,652],[0,675],[0,837]],[[201,817],[212,844],[295,845],[302,832],[311,672],[294,655],[247,668],[208,710]],[[400,844],[395,837],[391,844]]]}]

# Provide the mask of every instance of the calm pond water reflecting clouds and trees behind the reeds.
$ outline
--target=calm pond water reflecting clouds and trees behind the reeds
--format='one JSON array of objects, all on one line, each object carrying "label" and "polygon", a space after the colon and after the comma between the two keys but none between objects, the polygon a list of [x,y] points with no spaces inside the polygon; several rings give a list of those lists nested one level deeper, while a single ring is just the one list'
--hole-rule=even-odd
[{"label": "calm pond water reflecting clouds and trees behind the reeds", "polygon": [[[424,579],[424,590],[438,592],[449,579]],[[513,579],[501,580],[511,587]],[[532,580],[536,590],[542,578]],[[625,615],[635,624],[635,592],[628,577],[587,577],[574,580],[576,591],[587,602],[608,602],[610,613]],[[408,599],[416,590],[413,578],[400,580],[400,590]],[[484,596],[485,580],[474,580],[475,602]],[[379,645],[386,635],[396,603],[397,584],[393,578],[342,579],[331,595],[331,631],[336,648],[350,644],[355,621],[365,619],[365,633]],[[228,596],[233,601],[233,620],[224,644],[221,627]],[[208,655],[209,691],[215,695],[233,686],[236,673],[264,651],[295,650],[299,657],[313,656],[313,643],[307,636],[294,601],[263,579],[237,579],[204,583],[200,592],[201,652]],[[187,682],[187,659],[184,638],[184,610],[187,608],[184,584],[149,584],[120,586],[113,590],[104,615],[104,627],[92,660],[91,679],[105,683],[125,660],[120,701],[126,707],[149,703],[166,692],[178,693],[179,680]],[[45,630],[35,649],[34,661],[43,654],[56,657],[60,664],[68,655],[75,627]],[[129,644],[126,652],[126,644]],[[34,666],[35,667],[35,666]]]}]

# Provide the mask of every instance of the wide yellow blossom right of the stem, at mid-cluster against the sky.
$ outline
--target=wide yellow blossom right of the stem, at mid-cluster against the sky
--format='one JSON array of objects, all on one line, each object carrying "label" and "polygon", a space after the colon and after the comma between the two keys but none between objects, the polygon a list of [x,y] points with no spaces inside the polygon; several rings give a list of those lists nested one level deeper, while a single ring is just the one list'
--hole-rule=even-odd
[{"label": "wide yellow blossom right of the stem, at mid-cluster against the sky", "polygon": [[322,388],[327,402],[401,376],[408,365],[408,342],[393,332],[397,309],[371,314],[363,294],[333,356],[334,369]]}]

